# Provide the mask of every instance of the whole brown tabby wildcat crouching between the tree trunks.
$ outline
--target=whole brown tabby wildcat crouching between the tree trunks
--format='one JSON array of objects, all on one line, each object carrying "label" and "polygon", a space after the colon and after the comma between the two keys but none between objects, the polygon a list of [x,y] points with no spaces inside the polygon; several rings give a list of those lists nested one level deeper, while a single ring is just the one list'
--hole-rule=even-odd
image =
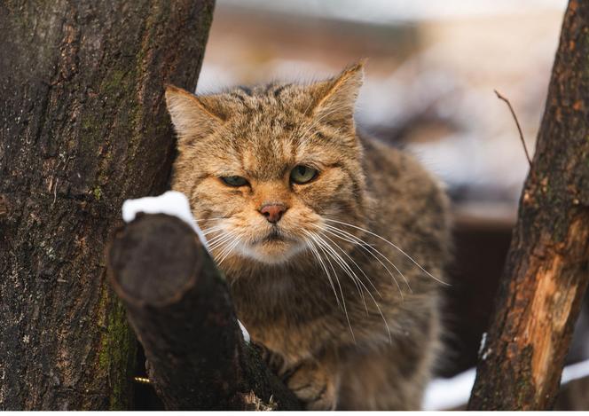
[{"label": "whole brown tabby wildcat crouching between the tree trunks", "polygon": [[362,64],[310,85],[169,86],[184,192],[238,317],[309,409],[419,409],[439,347],[444,192],[353,118]]}]

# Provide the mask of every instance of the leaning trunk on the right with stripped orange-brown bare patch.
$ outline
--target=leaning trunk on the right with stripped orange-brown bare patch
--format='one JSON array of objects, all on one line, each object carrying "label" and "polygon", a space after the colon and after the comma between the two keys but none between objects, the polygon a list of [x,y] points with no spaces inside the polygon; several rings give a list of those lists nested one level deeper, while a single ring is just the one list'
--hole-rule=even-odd
[{"label": "leaning trunk on the right with stripped orange-brown bare patch", "polygon": [[564,17],[472,410],[550,409],[589,281],[589,3]]}]

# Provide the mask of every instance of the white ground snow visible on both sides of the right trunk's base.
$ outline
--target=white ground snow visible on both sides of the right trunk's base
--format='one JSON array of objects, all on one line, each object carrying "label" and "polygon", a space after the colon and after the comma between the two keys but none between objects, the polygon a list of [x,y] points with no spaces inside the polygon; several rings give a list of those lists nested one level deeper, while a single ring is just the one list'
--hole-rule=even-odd
[{"label": "white ground snow visible on both sides of the right trunk's base", "polygon": [[[567,365],[562,370],[561,384],[589,376],[589,360]],[[471,368],[450,379],[431,381],[423,399],[423,410],[448,410],[466,405],[475,384],[475,369]]]}]

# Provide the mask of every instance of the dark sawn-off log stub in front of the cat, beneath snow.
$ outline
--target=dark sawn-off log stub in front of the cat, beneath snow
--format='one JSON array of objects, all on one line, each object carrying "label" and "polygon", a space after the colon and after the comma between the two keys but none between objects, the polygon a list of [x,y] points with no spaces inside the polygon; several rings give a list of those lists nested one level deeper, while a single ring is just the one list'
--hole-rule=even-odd
[{"label": "dark sawn-off log stub in front of the cat, beneath snow", "polygon": [[107,259],[167,409],[301,409],[243,341],[227,284],[190,226],[140,216],[117,232]]}]

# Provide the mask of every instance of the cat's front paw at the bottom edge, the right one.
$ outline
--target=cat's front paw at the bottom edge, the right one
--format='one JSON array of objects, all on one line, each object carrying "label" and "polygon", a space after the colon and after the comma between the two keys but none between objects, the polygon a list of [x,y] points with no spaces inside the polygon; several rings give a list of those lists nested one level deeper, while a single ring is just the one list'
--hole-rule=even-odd
[{"label": "cat's front paw at the bottom edge, the right one", "polygon": [[335,383],[317,363],[305,362],[287,375],[287,387],[304,402],[307,410],[334,410]]}]

